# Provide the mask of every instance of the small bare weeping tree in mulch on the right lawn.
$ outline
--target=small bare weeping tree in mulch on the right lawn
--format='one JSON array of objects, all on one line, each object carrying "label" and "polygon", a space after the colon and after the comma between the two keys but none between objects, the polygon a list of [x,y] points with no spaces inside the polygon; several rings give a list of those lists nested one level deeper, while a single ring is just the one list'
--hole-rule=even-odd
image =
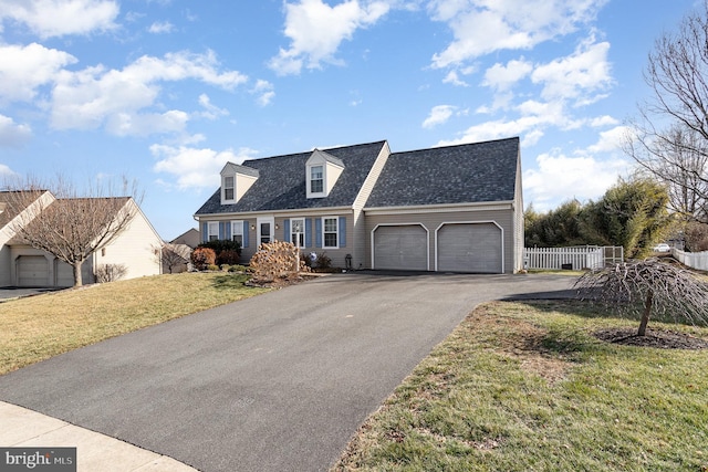
[{"label": "small bare weeping tree in mulch on the right lawn", "polygon": [[620,315],[639,317],[637,336],[646,335],[653,314],[675,322],[708,322],[708,285],[690,271],[658,259],[586,272],[575,282],[575,289],[581,300]]}]

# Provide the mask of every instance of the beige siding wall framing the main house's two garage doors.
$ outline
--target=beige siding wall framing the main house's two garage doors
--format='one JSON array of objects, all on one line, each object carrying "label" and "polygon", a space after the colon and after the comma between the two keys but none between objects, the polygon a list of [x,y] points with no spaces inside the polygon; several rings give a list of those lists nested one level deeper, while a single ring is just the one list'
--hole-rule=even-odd
[{"label": "beige siding wall framing the main house's two garage doors", "polygon": [[[366,210],[365,210],[366,211]],[[514,217],[510,203],[499,203],[485,207],[465,209],[439,208],[435,210],[407,210],[395,212],[371,210],[366,212],[366,268],[372,268],[372,231],[379,224],[421,224],[428,230],[428,248],[420,248],[420,251],[428,251],[428,266],[430,271],[435,270],[436,254],[436,230],[442,223],[449,222],[490,222],[493,221],[503,230],[503,258],[504,273],[516,272],[518,261],[514,261],[516,254],[516,235],[514,235]]]}]

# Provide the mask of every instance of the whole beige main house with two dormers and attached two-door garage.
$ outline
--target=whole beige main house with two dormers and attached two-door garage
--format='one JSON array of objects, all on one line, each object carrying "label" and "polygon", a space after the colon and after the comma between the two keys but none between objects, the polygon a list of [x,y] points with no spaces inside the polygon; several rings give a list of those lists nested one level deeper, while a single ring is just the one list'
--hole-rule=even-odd
[{"label": "whole beige main house with two dormers and attached two-door garage", "polygon": [[407,153],[387,141],[227,164],[201,240],[290,241],[353,269],[522,269],[519,138]]}]

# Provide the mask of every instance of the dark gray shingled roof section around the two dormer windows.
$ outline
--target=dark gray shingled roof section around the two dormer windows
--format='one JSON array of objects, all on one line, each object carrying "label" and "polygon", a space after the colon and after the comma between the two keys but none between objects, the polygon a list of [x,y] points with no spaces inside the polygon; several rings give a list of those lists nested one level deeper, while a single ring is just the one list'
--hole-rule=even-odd
[{"label": "dark gray shingled roof section around the two dormer windows", "polygon": [[246,160],[243,166],[259,171],[258,180],[246,195],[235,204],[221,204],[220,189],[217,189],[196,214],[350,207],[354,204],[385,143],[326,149],[327,154],[344,165],[342,175],[326,198],[306,198],[305,162],[313,151]]}]

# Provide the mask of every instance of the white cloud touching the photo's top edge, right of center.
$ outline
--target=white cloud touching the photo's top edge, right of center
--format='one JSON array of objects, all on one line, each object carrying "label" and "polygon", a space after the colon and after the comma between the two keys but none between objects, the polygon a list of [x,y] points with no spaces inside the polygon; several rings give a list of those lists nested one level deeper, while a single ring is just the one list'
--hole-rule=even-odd
[{"label": "white cloud touching the photo's top edge, right of center", "polygon": [[500,50],[530,50],[592,20],[607,0],[431,0],[433,19],[455,40],[433,56],[434,67],[456,66]]}]

